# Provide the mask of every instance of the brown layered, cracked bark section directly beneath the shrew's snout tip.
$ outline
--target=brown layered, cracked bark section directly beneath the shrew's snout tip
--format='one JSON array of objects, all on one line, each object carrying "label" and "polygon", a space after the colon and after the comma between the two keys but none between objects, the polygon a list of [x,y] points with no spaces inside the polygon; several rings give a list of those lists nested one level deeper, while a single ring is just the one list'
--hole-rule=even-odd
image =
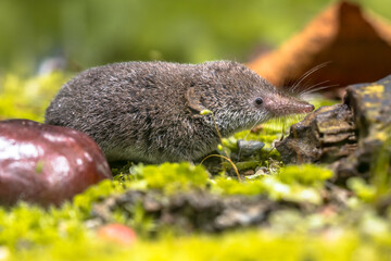
[{"label": "brown layered, cracked bark section directly beneath the shrew's snout tip", "polygon": [[353,114],[345,104],[321,107],[276,142],[283,163],[333,162],[356,148]]}]

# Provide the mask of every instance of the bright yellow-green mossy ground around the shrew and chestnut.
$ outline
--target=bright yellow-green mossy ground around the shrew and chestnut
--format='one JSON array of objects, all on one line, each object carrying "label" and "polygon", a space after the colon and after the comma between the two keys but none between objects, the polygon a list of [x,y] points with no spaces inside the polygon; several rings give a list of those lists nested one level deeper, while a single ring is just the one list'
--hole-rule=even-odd
[{"label": "bright yellow-green mossy ground around the shrew and chestnut", "polygon": [[[53,86],[65,80],[61,74],[3,77],[0,117],[42,121],[56,91]],[[317,101],[317,105],[328,102]],[[224,140],[227,150],[234,150],[236,139],[243,137],[266,142],[264,152],[252,159],[257,162],[254,173],[241,182],[232,173],[212,176],[203,165],[188,162],[127,164],[113,169],[113,181],[90,187],[60,208],[24,202],[0,207],[0,260],[390,260],[391,194],[384,189],[390,186],[375,182],[381,171],[369,181],[354,177],[346,187],[338,187],[326,166],[282,165],[278,152],[270,152],[272,141],[294,121],[286,122],[286,127],[278,122],[265,124],[257,133],[243,132]],[[206,233],[157,226],[153,216],[136,206],[110,213],[111,222],[136,231],[135,244],[100,237],[97,231],[102,223],[93,206],[129,190],[167,196],[193,190],[220,197],[263,195],[295,207],[272,212],[262,225]]]}]

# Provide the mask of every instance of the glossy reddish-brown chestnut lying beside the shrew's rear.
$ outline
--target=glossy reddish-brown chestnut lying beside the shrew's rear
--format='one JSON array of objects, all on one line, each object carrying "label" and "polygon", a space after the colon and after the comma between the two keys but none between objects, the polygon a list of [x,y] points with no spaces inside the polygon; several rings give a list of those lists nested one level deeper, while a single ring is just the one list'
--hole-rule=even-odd
[{"label": "glossy reddish-brown chestnut lying beside the shrew's rear", "polygon": [[112,178],[98,145],[80,132],[29,120],[0,122],[0,203],[55,204]]}]

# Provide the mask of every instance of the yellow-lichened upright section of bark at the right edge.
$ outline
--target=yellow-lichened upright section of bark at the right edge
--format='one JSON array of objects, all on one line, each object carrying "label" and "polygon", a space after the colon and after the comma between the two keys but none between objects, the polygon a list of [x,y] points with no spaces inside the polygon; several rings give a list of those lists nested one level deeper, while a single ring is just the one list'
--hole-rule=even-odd
[{"label": "yellow-lichened upright section of bark at the right edge", "polygon": [[337,164],[338,176],[367,178],[376,171],[391,175],[391,75],[373,84],[349,86],[345,103],[354,113],[358,148]]}]

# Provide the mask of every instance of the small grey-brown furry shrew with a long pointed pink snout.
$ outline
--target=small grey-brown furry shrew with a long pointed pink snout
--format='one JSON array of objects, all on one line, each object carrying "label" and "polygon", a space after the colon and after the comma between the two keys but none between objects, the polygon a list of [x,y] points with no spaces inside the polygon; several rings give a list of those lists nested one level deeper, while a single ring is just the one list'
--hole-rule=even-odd
[{"label": "small grey-brown furry shrew with a long pointed pink snout", "polygon": [[197,160],[223,136],[313,105],[278,91],[242,64],[124,62],[93,67],[66,83],[46,123],[81,130],[109,161]]}]

